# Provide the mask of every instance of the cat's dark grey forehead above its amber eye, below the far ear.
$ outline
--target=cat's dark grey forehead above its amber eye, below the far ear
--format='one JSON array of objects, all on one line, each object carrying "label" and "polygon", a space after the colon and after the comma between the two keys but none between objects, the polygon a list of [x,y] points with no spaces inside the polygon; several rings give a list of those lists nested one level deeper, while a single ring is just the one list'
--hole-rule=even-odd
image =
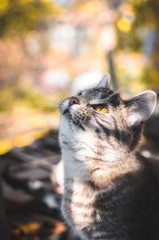
[{"label": "cat's dark grey forehead above its amber eye, below the far ear", "polygon": [[82,96],[87,100],[92,99],[106,99],[111,96],[114,92],[108,88],[91,88],[84,89],[77,93],[77,96]]}]

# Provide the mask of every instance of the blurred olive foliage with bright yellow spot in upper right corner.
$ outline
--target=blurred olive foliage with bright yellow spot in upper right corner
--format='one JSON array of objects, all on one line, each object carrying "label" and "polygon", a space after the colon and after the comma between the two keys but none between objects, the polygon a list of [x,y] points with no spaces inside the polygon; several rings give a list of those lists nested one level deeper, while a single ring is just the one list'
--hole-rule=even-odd
[{"label": "blurred olive foliage with bright yellow spot in upper right corner", "polygon": [[[117,21],[118,47],[122,50],[141,50],[146,28],[155,27],[157,5],[154,0],[127,0]],[[156,1],[157,2],[157,1]]]}]

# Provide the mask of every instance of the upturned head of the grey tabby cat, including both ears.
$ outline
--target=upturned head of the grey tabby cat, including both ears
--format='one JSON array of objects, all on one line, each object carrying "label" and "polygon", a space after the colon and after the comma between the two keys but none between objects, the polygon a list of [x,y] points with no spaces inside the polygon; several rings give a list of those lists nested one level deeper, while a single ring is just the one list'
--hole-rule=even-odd
[{"label": "upturned head of the grey tabby cat, including both ears", "polygon": [[110,76],[105,74],[96,87],[60,102],[61,145],[72,149],[88,145],[98,154],[133,151],[155,104],[153,91],[123,100],[110,89]]}]

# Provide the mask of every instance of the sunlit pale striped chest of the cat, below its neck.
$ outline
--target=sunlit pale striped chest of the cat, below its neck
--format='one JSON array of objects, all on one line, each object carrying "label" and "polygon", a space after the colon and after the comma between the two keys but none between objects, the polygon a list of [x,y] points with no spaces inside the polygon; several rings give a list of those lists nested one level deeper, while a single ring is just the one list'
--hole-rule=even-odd
[{"label": "sunlit pale striped chest of the cat, below its neck", "polygon": [[65,217],[76,224],[77,230],[90,226],[96,215],[94,209],[96,192],[91,186],[78,180],[66,181],[65,190],[63,199]]}]

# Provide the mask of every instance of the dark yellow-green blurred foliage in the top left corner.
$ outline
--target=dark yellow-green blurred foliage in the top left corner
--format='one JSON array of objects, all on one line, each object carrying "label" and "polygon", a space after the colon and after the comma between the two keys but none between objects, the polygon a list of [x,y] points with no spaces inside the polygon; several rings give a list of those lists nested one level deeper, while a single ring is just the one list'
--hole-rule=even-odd
[{"label": "dark yellow-green blurred foliage in the top left corner", "polygon": [[0,37],[37,29],[59,12],[51,0],[0,0]]}]

